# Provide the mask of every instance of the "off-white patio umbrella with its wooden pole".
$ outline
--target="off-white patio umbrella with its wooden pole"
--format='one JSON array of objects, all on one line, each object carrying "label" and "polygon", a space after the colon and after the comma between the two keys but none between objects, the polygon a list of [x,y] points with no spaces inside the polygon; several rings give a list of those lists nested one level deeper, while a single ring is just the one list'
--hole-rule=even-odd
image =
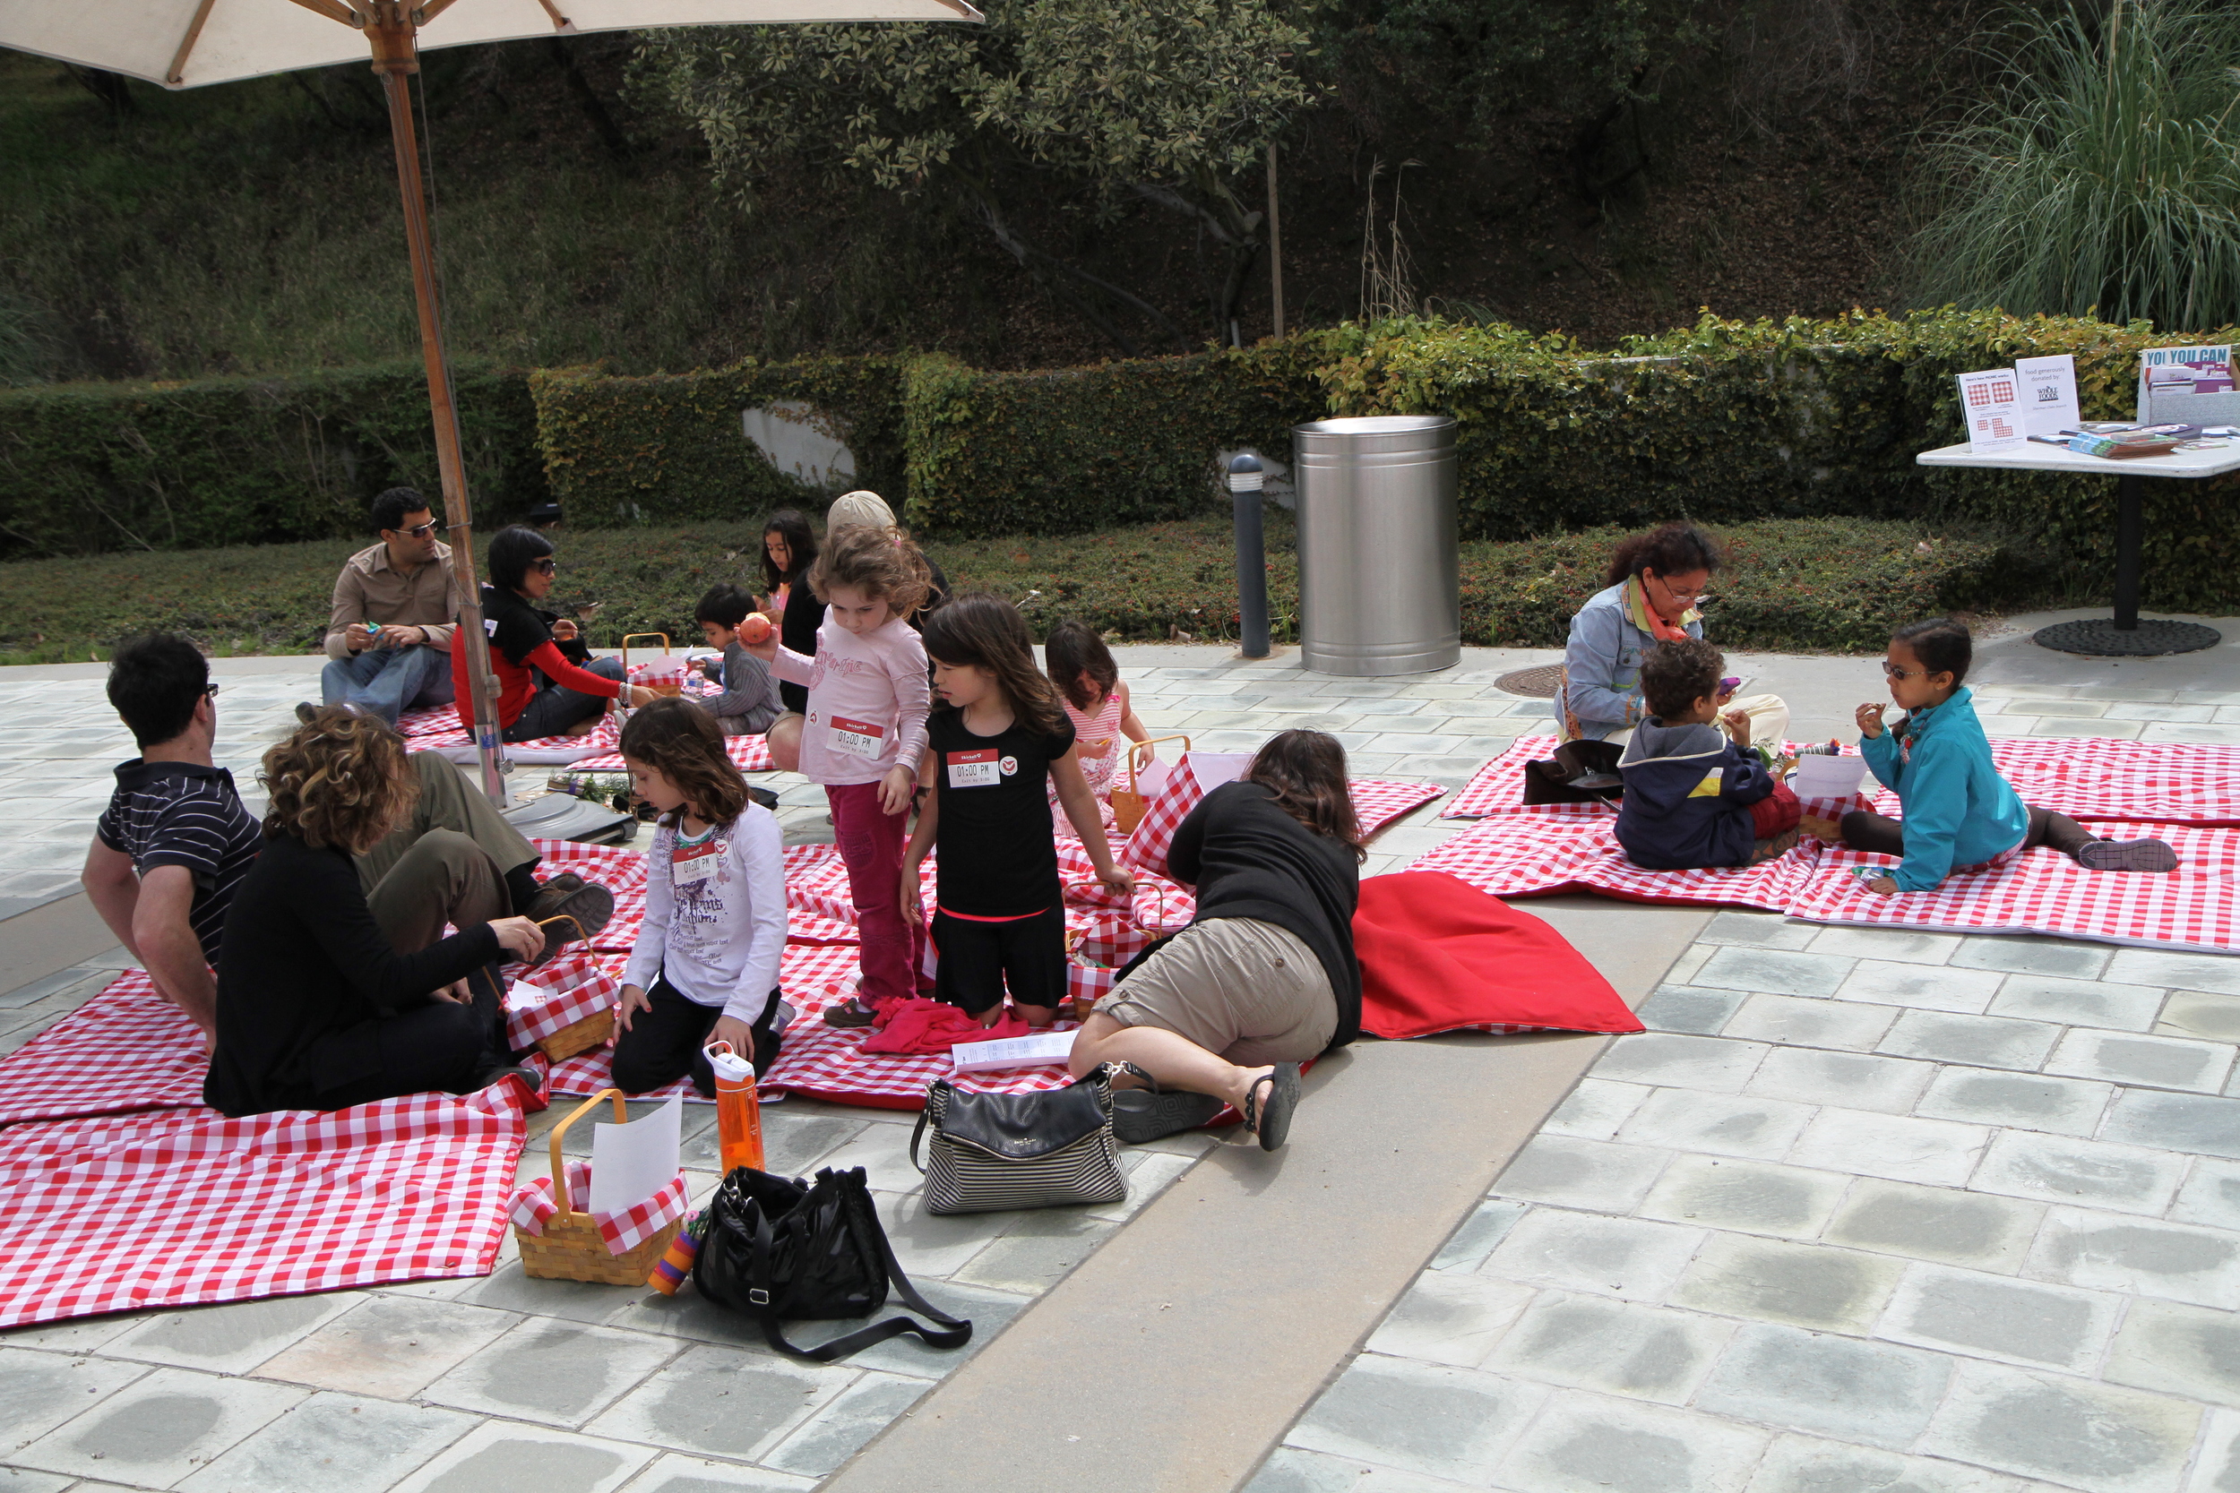
[{"label": "off-white patio umbrella with its wooden pole", "polygon": [[[473,506],[459,461],[459,414],[450,396],[450,354],[437,302],[421,188],[419,139],[405,78],[423,47],[470,47],[526,36],[650,31],[659,27],[780,25],[804,20],[981,20],[963,0],[0,0],[0,47],[121,72],[164,87],[231,83],[298,67],[327,67],[367,54],[390,101],[390,141],[405,206],[405,253],[419,300],[428,407],[444,481],[452,564],[461,578],[459,625],[475,692],[475,748],[482,788],[504,801],[497,745],[497,678],[482,629],[475,584]],[[423,34],[426,29],[426,34]]]}]

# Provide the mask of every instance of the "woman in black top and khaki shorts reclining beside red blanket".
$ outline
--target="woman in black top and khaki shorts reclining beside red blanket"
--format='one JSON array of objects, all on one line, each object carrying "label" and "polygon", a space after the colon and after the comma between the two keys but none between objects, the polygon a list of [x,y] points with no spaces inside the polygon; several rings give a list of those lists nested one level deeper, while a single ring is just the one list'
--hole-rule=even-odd
[{"label": "woman in black top and khaki shorts reclining beside red blanket", "polygon": [[1284,1144],[1299,1063],[1362,1030],[1353,960],[1360,821],[1346,750],[1322,732],[1284,732],[1234,783],[1205,795],[1167,851],[1167,875],[1198,913],[1127,969],[1073,1039],[1073,1072],[1122,1063],[1113,1130],[1158,1139],[1223,1104]]}]

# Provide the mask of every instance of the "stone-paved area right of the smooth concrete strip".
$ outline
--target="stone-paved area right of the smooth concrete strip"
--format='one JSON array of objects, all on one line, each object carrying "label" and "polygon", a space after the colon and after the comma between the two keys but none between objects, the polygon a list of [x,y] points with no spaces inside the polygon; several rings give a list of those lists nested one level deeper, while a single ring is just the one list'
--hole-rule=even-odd
[{"label": "stone-paved area right of the smooth concrete strip", "polygon": [[2240,1489],[2240,958],[1723,913],[1252,1493]]}]

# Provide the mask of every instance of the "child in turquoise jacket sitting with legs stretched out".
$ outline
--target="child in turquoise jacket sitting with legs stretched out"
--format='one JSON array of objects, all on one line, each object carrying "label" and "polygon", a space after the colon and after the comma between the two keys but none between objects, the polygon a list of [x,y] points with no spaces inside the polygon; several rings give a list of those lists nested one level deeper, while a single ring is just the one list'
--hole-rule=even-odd
[{"label": "child in turquoise jacket sitting with legs stretched out", "polygon": [[2052,846],[2085,871],[2175,871],[2177,851],[2159,839],[2099,839],[2047,808],[2023,804],[1991,761],[1976,705],[1960,680],[1973,658],[1967,627],[1947,618],[1908,622],[1891,636],[1882,672],[1906,714],[1888,730],[1884,705],[1859,705],[1859,754],[1904,806],[1904,821],[1857,810],[1844,815],[1852,851],[1897,855],[1897,873],[1870,891],[1935,891],[1953,871],[1980,871],[2027,846]]}]

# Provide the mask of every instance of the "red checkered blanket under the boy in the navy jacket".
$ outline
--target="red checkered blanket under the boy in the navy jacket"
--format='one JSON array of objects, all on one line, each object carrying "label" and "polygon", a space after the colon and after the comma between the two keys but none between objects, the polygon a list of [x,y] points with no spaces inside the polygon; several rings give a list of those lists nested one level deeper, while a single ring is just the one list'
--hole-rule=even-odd
[{"label": "red checkered blanket under the boy in the navy jacket", "polygon": [[1617,815],[1606,810],[1595,817],[1539,810],[1492,815],[1407,868],[1447,871],[1496,898],[1599,891],[1628,902],[1763,907],[1779,913],[1788,911],[1821,855],[1819,842],[1803,839],[1758,866],[1642,871],[1611,833]]}]

